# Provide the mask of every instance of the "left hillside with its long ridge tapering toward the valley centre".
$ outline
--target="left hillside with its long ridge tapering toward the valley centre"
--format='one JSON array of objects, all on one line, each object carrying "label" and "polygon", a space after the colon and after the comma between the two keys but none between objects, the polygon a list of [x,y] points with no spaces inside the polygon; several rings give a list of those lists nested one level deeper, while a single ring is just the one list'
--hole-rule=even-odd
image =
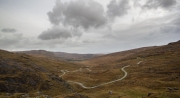
[{"label": "left hillside with its long ridge tapering toward the valley centre", "polygon": [[0,97],[72,93],[72,87],[58,74],[61,69],[77,68],[64,61],[0,50]]}]

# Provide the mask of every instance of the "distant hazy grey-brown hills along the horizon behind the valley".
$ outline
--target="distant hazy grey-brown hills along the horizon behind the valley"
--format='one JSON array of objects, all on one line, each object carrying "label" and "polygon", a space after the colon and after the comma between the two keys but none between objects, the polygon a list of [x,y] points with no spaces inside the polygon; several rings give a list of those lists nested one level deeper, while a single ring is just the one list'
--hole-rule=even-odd
[{"label": "distant hazy grey-brown hills along the horizon behind the valley", "polygon": [[50,58],[56,58],[67,61],[81,61],[91,59],[103,54],[78,54],[78,53],[65,53],[65,52],[50,52],[46,50],[31,50],[31,51],[19,51],[18,53],[25,53],[34,56],[46,56]]}]

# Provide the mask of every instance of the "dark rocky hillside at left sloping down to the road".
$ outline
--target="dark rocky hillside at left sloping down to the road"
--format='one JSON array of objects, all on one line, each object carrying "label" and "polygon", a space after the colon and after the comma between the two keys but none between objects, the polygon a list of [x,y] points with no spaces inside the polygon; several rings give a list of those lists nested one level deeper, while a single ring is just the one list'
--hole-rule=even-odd
[{"label": "dark rocky hillside at left sloping down to the road", "polygon": [[0,93],[48,92],[57,89],[53,93],[55,95],[73,91],[58,75],[38,66],[40,63],[39,59],[28,55],[0,50]]}]

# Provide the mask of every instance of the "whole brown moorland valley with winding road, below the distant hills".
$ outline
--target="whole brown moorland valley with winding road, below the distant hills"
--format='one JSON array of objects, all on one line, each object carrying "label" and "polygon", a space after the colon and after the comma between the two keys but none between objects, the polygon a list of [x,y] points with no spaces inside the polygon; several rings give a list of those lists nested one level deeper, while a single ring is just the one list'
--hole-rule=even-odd
[{"label": "whole brown moorland valley with winding road, below the distant hills", "polygon": [[0,97],[180,97],[180,41],[73,60],[0,50]]}]

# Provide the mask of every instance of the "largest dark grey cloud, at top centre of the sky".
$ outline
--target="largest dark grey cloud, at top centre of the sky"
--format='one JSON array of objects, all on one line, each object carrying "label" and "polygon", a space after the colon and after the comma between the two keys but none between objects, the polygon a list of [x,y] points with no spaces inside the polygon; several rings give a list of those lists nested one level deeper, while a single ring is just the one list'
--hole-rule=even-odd
[{"label": "largest dark grey cloud, at top centre of the sky", "polygon": [[48,12],[49,20],[54,25],[98,28],[106,24],[103,6],[93,0],[76,0],[62,3],[56,1],[52,11]]}]

